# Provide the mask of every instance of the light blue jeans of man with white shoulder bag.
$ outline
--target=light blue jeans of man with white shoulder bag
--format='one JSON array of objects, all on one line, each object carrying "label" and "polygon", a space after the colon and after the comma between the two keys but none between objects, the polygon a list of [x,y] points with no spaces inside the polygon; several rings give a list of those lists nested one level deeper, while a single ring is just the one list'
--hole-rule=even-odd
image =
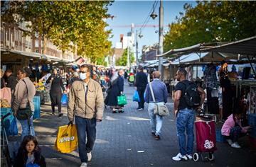
[{"label": "light blue jeans of man with white shoulder bag", "polygon": [[[164,104],[164,103],[159,103],[159,104]],[[163,117],[160,115],[154,114],[154,105],[155,103],[149,103],[149,108],[148,108],[151,132],[154,132],[156,135],[160,136],[161,127],[163,125]]]}]

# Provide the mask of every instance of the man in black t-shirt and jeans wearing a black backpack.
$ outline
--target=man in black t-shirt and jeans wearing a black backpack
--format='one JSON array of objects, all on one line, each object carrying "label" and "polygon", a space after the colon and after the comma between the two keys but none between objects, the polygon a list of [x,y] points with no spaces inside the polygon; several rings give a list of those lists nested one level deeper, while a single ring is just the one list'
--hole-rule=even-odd
[{"label": "man in black t-shirt and jeans wearing a black backpack", "polygon": [[[174,115],[176,116],[179,153],[176,156],[172,157],[174,161],[188,160],[193,158],[193,124],[196,111],[195,108],[191,108],[189,107],[189,105],[187,105],[186,98],[184,97],[188,86],[191,86],[191,84],[193,84],[191,81],[186,80],[186,74],[187,71],[183,68],[178,69],[176,73],[176,79],[179,82],[175,86]],[[199,110],[206,97],[206,93],[203,91],[203,88],[197,87],[196,84],[195,88],[201,98],[200,105],[198,106],[198,108],[196,108],[197,110]],[[188,137],[187,142],[185,130]]]}]

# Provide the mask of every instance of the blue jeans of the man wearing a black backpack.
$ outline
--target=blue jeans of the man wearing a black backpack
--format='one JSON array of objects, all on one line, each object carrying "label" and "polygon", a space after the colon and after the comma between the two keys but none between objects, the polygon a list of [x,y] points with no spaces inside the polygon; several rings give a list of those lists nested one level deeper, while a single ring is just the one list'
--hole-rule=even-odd
[{"label": "blue jeans of the man wearing a black backpack", "polygon": [[[187,108],[178,111],[176,127],[178,136],[178,145],[180,147],[181,155],[193,154],[193,123],[195,120],[195,111],[188,110]],[[188,137],[186,143],[185,130]]]}]

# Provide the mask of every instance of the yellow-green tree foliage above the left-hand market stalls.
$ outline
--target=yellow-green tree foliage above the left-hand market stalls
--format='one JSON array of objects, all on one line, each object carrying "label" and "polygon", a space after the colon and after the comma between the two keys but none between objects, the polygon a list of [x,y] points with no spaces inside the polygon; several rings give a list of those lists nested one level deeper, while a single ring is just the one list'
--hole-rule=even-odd
[{"label": "yellow-green tree foliage above the left-hand market stalls", "polygon": [[74,45],[77,45],[78,55],[88,57],[95,63],[110,52],[111,42],[108,39],[111,30],[105,30],[107,23],[104,18],[110,17],[107,6],[111,3],[112,1],[23,1],[18,10],[9,13],[18,13],[22,18],[20,21],[31,22],[29,28],[32,34],[38,32],[63,51],[73,50]]}]

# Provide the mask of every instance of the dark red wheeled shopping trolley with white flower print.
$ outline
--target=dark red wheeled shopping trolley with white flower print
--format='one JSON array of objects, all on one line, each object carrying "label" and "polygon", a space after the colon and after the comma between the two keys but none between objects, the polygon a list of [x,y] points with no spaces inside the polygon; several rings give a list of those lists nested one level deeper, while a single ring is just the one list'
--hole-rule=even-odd
[{"label": "dark red wheeled shopping trolley with white flower print", "polygon": [[[198,161],[200,156],[203,161],[213,161],[213,152],[217,150],[214,117],[204,113],[196,115],[195,125],[197,152],[193,154],[193,161]],[[203,153],[208,156],[204,157]]]}]

